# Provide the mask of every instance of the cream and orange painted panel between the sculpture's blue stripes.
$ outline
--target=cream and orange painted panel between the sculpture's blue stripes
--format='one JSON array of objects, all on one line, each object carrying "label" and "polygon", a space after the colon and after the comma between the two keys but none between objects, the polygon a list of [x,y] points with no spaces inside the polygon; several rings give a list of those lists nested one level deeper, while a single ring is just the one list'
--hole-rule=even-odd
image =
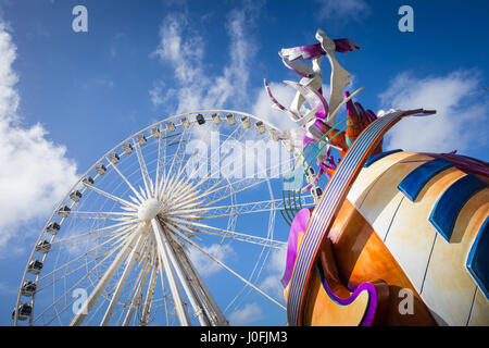
[{"label": "cream and orange painted panel between the sculpture's blue stripes", "polygon": [[[455,167],[439,173],[424,186],[415,202],[397,188],[423,160],[430,159],[411,152],[380,159],[362,170],[348,199],[385,239],[435,316],[449,325],[489,325],[489,302],[479,289],[474,300],[477,286],[465,266],[476,234],[489,214],[489,189],[463,207],[451,243],[447,243],[428,221],[429,214],[442,192],[466,174]],[[406,161],[422,162],[398,163]]]}]

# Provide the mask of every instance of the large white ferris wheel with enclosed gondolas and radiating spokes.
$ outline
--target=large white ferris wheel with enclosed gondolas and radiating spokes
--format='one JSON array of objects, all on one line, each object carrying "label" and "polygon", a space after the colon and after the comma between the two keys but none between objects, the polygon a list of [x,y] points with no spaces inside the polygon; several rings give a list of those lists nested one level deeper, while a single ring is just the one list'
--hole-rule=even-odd
[{"label": "large white ferris wheel with enclosed gondolas and radiating spokes", "polygon": [[14,325],[227,325],[251,294],[285,314],[260,286],[272,252],[287,245],[287,233],[275,234],[286,207],[274,178],[293,156],[276,132],[251,114],[203,110],[108,151],[42,228]]}]

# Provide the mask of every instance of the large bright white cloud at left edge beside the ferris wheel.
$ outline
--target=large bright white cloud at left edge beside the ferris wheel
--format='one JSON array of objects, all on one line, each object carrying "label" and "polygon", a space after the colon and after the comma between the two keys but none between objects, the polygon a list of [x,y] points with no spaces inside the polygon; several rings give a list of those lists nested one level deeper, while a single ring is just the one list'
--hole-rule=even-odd
[{"label": "large bright white cloud at left edge beside the ferris wheel", "polygon": [[0,22],[0,247],[27,222],[47,217],[77,178],[66,148],[49,140],[40,124],[22,123],[15,58],[16,46]]}]

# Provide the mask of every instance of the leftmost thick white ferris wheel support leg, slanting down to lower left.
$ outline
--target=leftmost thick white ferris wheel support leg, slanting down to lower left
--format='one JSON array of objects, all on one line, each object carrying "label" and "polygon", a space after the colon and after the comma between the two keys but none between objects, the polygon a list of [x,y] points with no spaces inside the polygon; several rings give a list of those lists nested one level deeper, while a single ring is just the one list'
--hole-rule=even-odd
[{"label": "leftmost thick white ferris wheel support leg, slanting down to lower left", "polygon": [[136,228],[136,231],[129,236],[126,246],[117,253],[112,264],[109,266],[109,269],[105,271],[105,273],[100,278],[97,286],[91,291],[88,299],[85,301],[85,304],[83,309],[77,313],[72,322],[70,323],[70,326],[77,326],[83,323],[85,318],[87,316],[90,309],[93,307],[93,304],[97,302],[98,298],[102,294],[103,289],[109,284],[110,279],[114,276],[115,271],[121,266],[123,261],[126,259],[127,254],[130,252],[134,244],[138,239],[141,232],[148,231],[149,224],[148,223],[141,223]]}]

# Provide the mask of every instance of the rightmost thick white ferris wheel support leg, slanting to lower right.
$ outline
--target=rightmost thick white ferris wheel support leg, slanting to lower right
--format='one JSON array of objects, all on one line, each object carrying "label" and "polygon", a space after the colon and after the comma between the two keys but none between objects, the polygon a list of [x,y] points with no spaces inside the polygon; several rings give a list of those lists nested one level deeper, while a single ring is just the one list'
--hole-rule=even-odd
[{"label": "rightmost thick white ferris wheel support leg, slanting to lower right", "polygon": [[[161,226],[160,222],[156,219],[153,219],[151,221],[151,224],[153,226],[154,233],[156,235],[160,235],[159,237],[163,244],[164,251],[165,251],[167,258],[170,259],[170,261],[172,262],[173,268],[176,271],[176,274],[181,283],[181,286],[190,301],[190,304],[193,308],[193,312],[195,312],[197,319],[199,320],[199,323],[202,326],[208,326],[209,320],[204,314],[202,306],[200,304],[199,300],[196,297],[196,294],[192,289],[191,284],[189,284],[189,282],[188,282],[187,274],[181,270],[180,262],[178,261],[178,258],[175,256],[175,250],[172,248],[172,244],[168,240],[165,231],[163,229],[163,227]],[[158,237],[156,237],[156,243],[159,244]],[[172,293],[173,293],[173,289],[172,289]]]}]

